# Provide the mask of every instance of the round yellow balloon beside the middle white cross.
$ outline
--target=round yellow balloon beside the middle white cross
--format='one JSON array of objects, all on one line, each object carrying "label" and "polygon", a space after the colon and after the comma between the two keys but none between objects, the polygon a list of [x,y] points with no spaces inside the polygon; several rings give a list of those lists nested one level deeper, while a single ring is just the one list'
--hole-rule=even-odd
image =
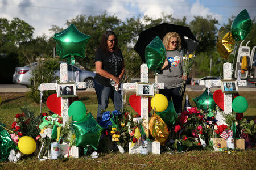
[{"label": "round yellow balloon beside the middle white cross", "polygon": [[163,112],[168,107],[168,100],[167,100],[166,96],[164,96],[162,94],[156,94],[151,99],[151,107],[156,112]]}]

